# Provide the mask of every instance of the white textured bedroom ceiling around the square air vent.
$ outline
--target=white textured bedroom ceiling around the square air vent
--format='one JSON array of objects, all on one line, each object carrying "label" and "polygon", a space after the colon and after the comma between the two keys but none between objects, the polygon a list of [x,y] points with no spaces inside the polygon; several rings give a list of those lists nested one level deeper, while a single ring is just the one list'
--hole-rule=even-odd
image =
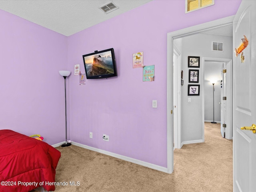
[{"label": "white textured bedroom ceiling around the square air vent", "polygon": [[105,14],[98,7],[110,0],[0,0],[0,9],[70,36],[151,0],[113,0],[119,8]]}]

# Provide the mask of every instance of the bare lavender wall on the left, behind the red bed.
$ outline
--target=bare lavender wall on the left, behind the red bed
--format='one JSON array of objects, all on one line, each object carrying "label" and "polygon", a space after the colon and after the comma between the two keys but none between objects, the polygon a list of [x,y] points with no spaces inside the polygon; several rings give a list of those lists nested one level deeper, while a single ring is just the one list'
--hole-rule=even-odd
[{"label": "bare lavender wall on the left, behind the red bed", "polygon": [[65,138],[67,37],[0,10],[0,129]]}]

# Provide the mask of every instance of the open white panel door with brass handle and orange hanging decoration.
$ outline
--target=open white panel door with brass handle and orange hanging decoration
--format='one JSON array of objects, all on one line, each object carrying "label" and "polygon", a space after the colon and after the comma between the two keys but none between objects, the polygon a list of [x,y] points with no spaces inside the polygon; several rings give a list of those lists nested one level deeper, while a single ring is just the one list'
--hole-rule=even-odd
[{"label": "open white panel door with brass handle and orange hanging decoration", "polygon": [[[250,130],[253,127],[246,128],[249,130],[241,129],[256,124],[255,10],[255,0],[243,0],[233,22],[233,47],[238,50],[238,56],[234,55],[233,59],[233,190],[235,192],[256,191],[256,134]],[[244,41],[244,46],[241,39]],[[241,58],[244,58],[244,62]]]}]

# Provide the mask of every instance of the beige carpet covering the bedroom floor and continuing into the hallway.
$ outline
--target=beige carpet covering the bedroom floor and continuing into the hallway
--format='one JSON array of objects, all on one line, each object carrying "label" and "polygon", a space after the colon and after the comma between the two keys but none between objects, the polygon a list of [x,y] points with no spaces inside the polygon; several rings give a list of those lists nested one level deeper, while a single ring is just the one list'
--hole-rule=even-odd
[{"label": "beige carpet covering the bedroom floor and continuing into the hallway", "polygon": [[[78,146],[58,147],[56,192],[232,192],[232,140],[220,124],[205,123],[205,142],[174,150],[174,173],[167,174]],[[80,182],[70,186],[69,182]]]}]

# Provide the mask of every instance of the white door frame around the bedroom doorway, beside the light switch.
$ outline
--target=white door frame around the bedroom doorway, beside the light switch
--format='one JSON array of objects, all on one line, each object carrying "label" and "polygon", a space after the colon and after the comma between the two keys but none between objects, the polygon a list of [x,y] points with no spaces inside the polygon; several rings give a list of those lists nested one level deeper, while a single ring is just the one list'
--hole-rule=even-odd
[{"label": "white door frame around the bedroom doorway, beside the light switch", "polygon": [[[233,25],[234,16],[229,16],[219,20],[207,22],[204,24],[192,26],[189,28],[177,30],[167,34],[167,172],[172,173],[174,170],[174,118],[171,110],[173,110],[174,89],[173,89],[173,40],[198,34],[206,30],[212,30],[218,27]],[[179,107],[179,106],[177,106]]]}]

